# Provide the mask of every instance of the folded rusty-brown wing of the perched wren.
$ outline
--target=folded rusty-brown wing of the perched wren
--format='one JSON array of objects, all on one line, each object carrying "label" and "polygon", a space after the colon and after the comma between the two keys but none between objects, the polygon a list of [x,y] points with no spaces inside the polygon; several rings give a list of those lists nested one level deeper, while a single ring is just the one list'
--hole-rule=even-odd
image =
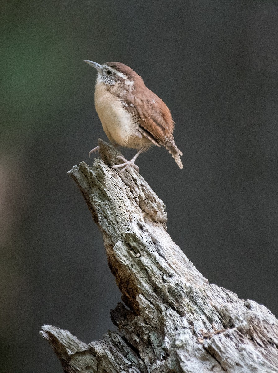
[{"label": "folded rusty-brown wing of the perched wren", "polygon": [[137,93],[136,98],[132,94],[127,95],[123,100],[125,109],[138,120],[142,135],[155,145],[165,146],[166,139],[173,137],[174,122],[171,112],[164,102],[148,88],[145,87],[142,94]]}]

